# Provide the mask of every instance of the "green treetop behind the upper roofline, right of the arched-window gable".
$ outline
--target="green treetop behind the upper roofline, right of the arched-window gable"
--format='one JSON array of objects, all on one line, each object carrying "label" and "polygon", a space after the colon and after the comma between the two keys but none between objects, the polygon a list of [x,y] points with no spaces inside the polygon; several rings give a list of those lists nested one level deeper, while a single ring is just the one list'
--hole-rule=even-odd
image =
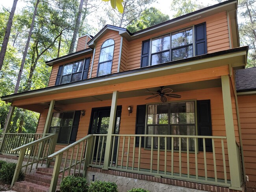
[{"label": "green treetop behind the upper roofline, right of the arched-window gable", "polygon": [[127,26],[127,29],[130,32],[134,33],[136,31],[143,30],[161,22],[165,22],[169,19],[169,15],[163,14],[155,7],[150,7],[148,9],[145,9],[138,19],[132,21],[132,23]]}]

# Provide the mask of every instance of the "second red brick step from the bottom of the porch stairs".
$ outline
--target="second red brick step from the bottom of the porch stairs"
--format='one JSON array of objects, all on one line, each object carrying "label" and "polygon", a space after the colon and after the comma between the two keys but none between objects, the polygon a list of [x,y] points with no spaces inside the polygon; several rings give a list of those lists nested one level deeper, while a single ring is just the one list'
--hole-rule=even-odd
[{"label": "second red brick step from the bottom of the porch stairs", "polygon": [[[36,183],[38,185],[50,186],[52,177],[48,175],[41,175],[41,174],[26,174],[25,181]],[[60,183],[60,179],[57,185],[59,185],[59,183]]]}]

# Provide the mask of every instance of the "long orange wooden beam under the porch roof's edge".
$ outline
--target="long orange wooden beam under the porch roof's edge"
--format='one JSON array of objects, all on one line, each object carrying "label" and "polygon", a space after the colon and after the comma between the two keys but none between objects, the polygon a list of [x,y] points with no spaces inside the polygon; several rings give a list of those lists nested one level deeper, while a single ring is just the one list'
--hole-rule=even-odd
[{"label": "long orange wooden beam under the porch roof's edge", "polygon": [[114,85],[106,85],[103,87],[89,88],[78,91],[52,94],[48,96],[39,96],[24,100],[17,100],[13,105],[29,105],[41,102],[49,102],[50,100],[64,100],[71,98],[79,98],[85,96],[96,96],[101,94],[111,94],[114,91],[125,92],[130,90],[147,89],[150,87],[159,87],[165,85],[175,85],[181,83],[189,83],[196,81],[204,81],[210,79],[220,79],[221,76],[229,75],[229,66],[220,66],[215,68],[197,70],[193,72],[184,72],[182,74],[174,74],[169,76],[161,76],[151,79],[142,79],[130,81],[127,83],[119,83]]}]

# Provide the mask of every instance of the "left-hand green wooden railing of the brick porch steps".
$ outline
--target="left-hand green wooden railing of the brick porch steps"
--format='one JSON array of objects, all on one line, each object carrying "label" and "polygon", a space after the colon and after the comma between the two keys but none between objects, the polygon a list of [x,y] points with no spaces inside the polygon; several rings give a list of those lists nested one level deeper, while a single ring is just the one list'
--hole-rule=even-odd
[{"label": "left-hand green wooden railing of the brick porch steps", "polygon": [[[58,134],[47,134],[48,136],[32,141],[28,144],[13,149],[12,151],[19,151],[19,159],[13,175],[13,181],[11,187],[18,180],[20,170],[23,168],[26,173],[28,168],[29,172],[32,168],[37,169],[38,164],[48,164],[48,156],[54,153],[55,146],[58,139]],[[26,161],[25,164],[22,164]]]}]

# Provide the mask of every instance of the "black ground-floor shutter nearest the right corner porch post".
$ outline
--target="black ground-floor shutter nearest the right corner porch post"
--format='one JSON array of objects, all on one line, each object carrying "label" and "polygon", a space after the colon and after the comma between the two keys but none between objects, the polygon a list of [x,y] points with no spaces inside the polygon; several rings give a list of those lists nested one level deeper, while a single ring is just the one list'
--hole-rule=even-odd
[{"label": "black ground-floor shutter nearest the right corner porch post", "polygon": [[[211,103],[210,100],[197,101],[197,127],[198,135],[211,136]],[[212,152],[211,139],[205,140],[206,152]],[[203,139],[198,139],[198,151],[204,151]]]}]

